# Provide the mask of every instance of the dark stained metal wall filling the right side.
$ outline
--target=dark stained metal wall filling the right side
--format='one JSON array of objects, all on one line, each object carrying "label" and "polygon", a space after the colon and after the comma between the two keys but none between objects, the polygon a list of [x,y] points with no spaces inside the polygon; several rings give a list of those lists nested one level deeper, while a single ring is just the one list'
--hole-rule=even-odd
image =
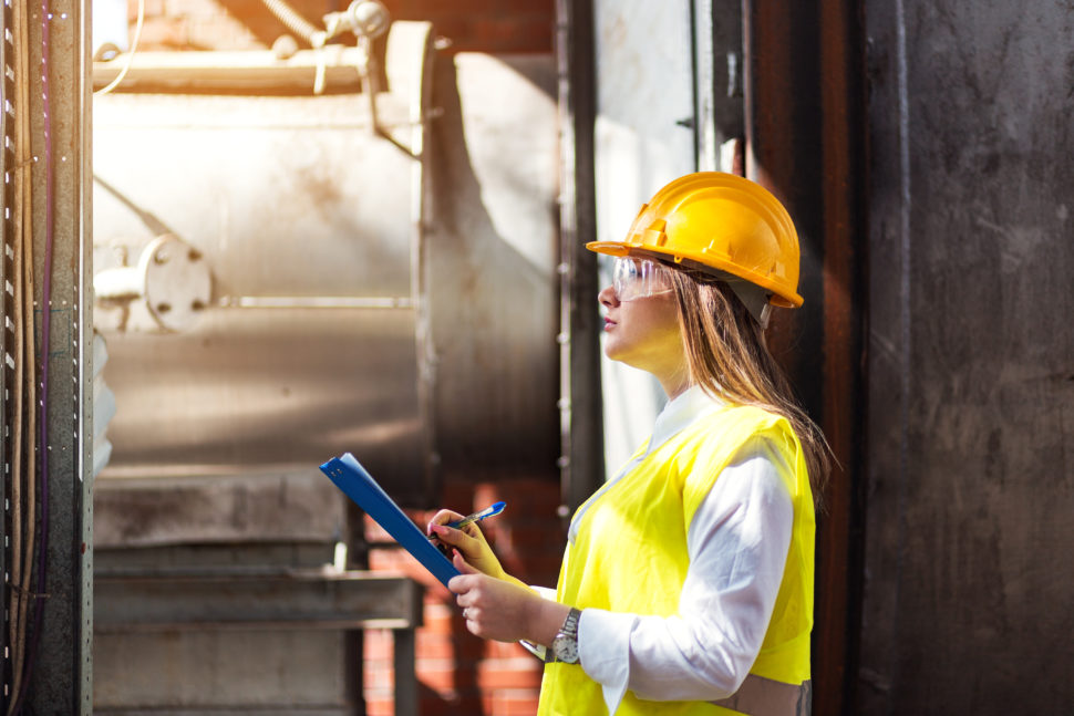
[{"label": "dark stained metal wall filling the right side", "polygon": [[1074,703],[1074,3],[864,3],[858,714]]}]

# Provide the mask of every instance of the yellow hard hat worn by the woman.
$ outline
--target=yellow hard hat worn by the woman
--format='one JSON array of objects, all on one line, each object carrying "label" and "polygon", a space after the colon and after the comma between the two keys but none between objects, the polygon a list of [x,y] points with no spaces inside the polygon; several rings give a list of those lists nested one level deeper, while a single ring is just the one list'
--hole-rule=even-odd
[{"label": "yellow hard hat worn by the woman", "polygon": [[680,177],[641,207],[624,240],[590,241],[586,248],[725,271],[771,291],[774,305],[802,305],[791,215],[767,189],[734,174]]}]

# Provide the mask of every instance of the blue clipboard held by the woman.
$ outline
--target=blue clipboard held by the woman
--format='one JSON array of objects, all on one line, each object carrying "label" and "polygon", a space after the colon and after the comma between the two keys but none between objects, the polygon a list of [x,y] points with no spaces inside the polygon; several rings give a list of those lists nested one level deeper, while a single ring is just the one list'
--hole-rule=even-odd
[{"label": "blue clipboard held by the woman", "polygon": [[321,465],[321,471],[335,482],[335,487],[354,500],[365,513],[395,538],[422,567],[447,587],[452,577],[459,574],[446,557],[433,546],[425,535],[411,521],[395,501],[376,484],[361,463],[350,453],[333,457]]}]

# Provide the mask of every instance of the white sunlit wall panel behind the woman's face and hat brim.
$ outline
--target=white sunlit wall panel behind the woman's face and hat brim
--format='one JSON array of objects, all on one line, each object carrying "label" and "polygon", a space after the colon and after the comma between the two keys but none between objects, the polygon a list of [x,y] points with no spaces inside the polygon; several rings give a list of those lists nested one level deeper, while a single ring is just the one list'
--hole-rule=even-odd
[{"label": "white sunlit wall panel behind the woman's face and hat brim", "polygon": [[[694,172],[690,0],[596,0],[597,238],[619,240],[642,204]],[[610,281],[601,260],[601,286]],[[644,440],[664,405],[648,373],[602,359],[607,476]]]}]

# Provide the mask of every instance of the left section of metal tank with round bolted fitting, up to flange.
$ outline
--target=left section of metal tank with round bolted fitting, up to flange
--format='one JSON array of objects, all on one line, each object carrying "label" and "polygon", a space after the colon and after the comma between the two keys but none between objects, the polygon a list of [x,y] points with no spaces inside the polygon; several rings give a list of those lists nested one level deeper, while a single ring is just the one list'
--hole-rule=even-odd
[{"label": "left section of metal tank with round bolted fitting, up to flange", "polygon": [[102,477],[286,474],[351,450],[401,498],[427,491],[428,27],[388,42],[375,105],[94,98],[95,325],[116,402]]}]

